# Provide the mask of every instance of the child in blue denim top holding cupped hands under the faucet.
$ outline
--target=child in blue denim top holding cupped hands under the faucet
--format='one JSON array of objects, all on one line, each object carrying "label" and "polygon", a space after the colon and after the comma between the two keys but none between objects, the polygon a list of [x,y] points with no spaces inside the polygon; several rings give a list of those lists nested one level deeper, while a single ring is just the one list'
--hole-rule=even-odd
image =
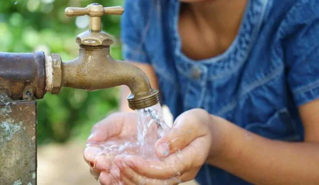
[{"label": "child in blue denim top holding cupped hands under the faucet", "polygon": [[[124,57],[178,118],[156,144],[161,162],[115,159],[121,181],[319,184],[319,0],[126,0],[125,8]],[[100,122],[89,141],[121,133],[132,114]],[[102,166],[99,180],[111,184]]]}]

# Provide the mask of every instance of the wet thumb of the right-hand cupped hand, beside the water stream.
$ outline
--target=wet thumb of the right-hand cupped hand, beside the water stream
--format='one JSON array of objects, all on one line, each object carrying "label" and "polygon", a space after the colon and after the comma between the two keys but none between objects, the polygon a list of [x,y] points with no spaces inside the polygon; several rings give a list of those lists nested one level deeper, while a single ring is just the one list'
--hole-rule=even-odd
[{"label": "wet thumb of the right-hand cupped hand, beside the water stream", "polygon": [[196,138],[208,134],[205,124],[202,124],[208,122],[208,119],[209,114],[199,109],[181,114],[171,130],[156,143],[157,155],[160,158],[167,157],[170,153],[182,150]]}]

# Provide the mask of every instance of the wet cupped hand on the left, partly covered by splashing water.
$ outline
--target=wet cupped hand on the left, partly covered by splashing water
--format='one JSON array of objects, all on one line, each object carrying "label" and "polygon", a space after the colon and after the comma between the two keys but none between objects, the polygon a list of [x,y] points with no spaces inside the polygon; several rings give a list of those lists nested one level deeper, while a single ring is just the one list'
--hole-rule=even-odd
[{"label": "wet cupped hand on the left, partly covered by splashing water", "polygon": [[119,142],[122,139],[128,141],[130,137],[136,137],[136,134],[136,113],[116,113],[93,127],[88,147],[84,151],[84,159],[91,166],[91,174],[102,184],[118,184],[119,169],[112,163],[117,151],[102,151],[99,143],[110,138],[118,138]]}]

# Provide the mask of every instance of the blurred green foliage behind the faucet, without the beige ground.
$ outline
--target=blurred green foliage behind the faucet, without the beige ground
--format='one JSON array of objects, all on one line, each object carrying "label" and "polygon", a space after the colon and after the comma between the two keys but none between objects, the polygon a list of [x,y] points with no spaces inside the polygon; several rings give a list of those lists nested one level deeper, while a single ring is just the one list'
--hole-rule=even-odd
[{"label": "blurred green foliage behind the faucet, without the beige ground", "polygon": [[[42,50],[46,54],[59,53],[63,61],[75,58],[78,55],[75,37],[87,29],[83,28],[85,17],[67,17],[64,9],[92,2],[104,6],[123,3],[122,0],[1,0],[0,51]],[[102,18],[103,30],[115,38],[120,35],[119,23],[117,15]],[[121,59],[119,41],[113,44],[111,54]],[[117,88],[94,92],[63,88],[59,95],[45,95],[38,101],[39,144],[86,138],[97,121],[117,109],[118,94]]]}]

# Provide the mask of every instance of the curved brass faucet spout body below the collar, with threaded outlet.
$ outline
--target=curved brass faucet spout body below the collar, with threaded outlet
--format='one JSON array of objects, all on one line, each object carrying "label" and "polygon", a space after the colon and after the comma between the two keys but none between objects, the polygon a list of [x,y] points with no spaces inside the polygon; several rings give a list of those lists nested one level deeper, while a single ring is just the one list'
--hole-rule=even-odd
[{"label": "curved brass faucet spout body below the collar, with threaded outlet", "polygon": [[158,90],[152,89],[146,74],[131,63],[118,61],[110,55],[109,46],[80,45],[79,56],[62,62],[64,87],[89,91],[127,85],[132,109],[142,109],[159,102]]}]

